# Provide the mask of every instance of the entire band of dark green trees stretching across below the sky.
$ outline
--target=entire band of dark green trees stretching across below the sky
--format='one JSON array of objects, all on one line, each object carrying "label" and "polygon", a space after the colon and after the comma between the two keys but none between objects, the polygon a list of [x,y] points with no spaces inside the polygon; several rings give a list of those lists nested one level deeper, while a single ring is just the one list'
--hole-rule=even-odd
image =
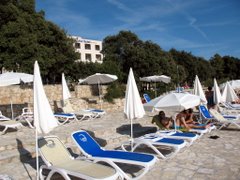
[{"label": "entire band of dark green trees stretching across below the sky", "polygon": [[119,84],[110,85],[112,96],[122,95],[120,84],[126,84],[130,67],[138,85],[140,77],[170,76],[170,84],[157,84],[158,94],[178,84],[192,86],[196,75],[205,86],[212,85],[213,78],[218,83],[240,79],[238,58],[215,54],[207,61],[191,52],[164,51],[131,31],[104,38],[102,53],[102,64],[75,62],[79,54],[74,51],[73,40],[63,29],[46,21],[44,11],[35,11],[35,0],[0,1],[0,72],[5,68],[32,73],[33,63],[38,60],[43,80],[48,83],[60,82],[62,72],[72,83],[97,72],[115,74]]}]

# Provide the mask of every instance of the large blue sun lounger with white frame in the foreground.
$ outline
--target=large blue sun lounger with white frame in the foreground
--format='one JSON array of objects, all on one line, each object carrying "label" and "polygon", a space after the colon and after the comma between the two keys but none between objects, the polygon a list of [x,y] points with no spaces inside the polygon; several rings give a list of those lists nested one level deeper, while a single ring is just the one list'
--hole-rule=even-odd
[{"label": "large blue sun lounger with white frame in the foreground", "polygon": [[[125,179],[132,179],[126,172],[124,172],[117,163],[129,164],[131,166],[140,166],[143,171],[135,177],[140,179],[144,174],[148,172],[157,158],[153,155],[126,152],[120,150],[105,150],[99,146],[99,144],[86,132],[77,131],[72,133],[72,138],[79,147],[80,151],[94,162],[105,162],[114,167]],[[135,179],[133,178],[133,179]]]}]

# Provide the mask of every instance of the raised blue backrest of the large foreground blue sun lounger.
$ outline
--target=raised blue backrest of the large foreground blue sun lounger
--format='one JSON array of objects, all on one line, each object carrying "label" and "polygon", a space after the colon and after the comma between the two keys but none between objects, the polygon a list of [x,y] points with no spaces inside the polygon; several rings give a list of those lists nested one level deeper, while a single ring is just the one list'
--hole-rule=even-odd
[{"label": "raised blue backrest of the large foreground blue sun lounger", "polygon": [[72,137],[87,155],[96,155],[102,151],[100,145],[86,131],[74,132]]}]

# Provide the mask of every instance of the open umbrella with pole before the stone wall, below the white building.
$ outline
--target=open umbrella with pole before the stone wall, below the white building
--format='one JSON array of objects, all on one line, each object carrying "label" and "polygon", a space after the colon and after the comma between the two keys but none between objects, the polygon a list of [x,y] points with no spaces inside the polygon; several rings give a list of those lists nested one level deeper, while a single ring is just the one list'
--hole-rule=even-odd
[{"label": "open umbrella with pole before the stone wall, below the white building", "polygon": [[98,85],[98,93],[99,93],[99,99],[100,99],[100,104],[102,109],[102,98],[101,98],[100,86],[101,84],[107,84],[107,83],[116,81],[117,79],[118,77],[116,75],[96,73],[91,76],[88,76],[84,80],[81,80],[81,83]]}]

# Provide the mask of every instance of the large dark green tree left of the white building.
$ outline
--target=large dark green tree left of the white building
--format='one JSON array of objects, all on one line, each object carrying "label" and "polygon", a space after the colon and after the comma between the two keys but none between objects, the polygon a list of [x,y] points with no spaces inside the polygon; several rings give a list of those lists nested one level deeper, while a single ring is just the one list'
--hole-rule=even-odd
[{"label": "large dark green tree left of the white building", "polygon": [[[43,79],[59,81],[61,72],[71,72],[78,54],[72,40],[58,26],[35,12],[34,0],[0,2],[0,71],[33,72],[38,60]],[[64,64],[64,66],[62,66]]]}]

